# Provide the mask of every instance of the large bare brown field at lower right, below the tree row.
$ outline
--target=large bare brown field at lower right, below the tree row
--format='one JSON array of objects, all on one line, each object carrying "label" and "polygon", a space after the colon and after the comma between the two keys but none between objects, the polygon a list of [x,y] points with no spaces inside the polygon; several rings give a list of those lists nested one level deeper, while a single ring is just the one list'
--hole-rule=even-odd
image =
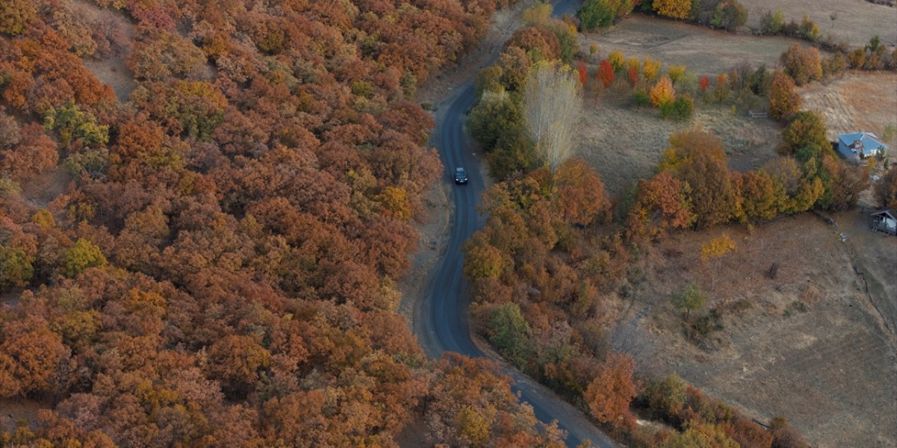
[{"label": "large bare brown field at lower right, below the tree row", "polygon": [[[897,446],[897,238],[869,231],[859,211],[834,218],[840,230],[804,213],[751,232],[668,238],[646,254],[632,309],[653,303],[638,328],[652,336],[657,373],[675,372],[754,418],[785,416],[814,446]],[[687,280],[710,289],[714,268],[701,262],[701,246],[724,232],[738,247],[708,307],[723,310],[725,328],[699,348],[669,297]],[[771,263],[775,280],[765,275]],[[871,300],[853,266],[867,273]],[[738,301],[749,307],[737,311]]]}]

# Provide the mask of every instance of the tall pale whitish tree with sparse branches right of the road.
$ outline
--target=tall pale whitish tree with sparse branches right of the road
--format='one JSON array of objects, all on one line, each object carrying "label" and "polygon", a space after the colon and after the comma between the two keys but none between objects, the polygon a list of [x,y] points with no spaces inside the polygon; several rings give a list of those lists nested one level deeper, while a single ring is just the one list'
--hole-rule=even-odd
[{"label": "tall pale whitish tree with sparse branches right of the road", "polygon": [[524,121],[536,153],[552,172],[573,151],[573,127],[582,111],[576,73],[558,62],[533,66],[524,90]]}]

